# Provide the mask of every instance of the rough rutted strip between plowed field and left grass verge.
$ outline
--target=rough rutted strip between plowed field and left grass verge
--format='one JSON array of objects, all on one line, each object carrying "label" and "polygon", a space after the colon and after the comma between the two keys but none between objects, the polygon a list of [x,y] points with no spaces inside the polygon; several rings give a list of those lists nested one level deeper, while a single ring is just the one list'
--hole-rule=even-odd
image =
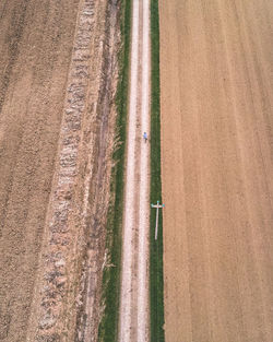
[{"label": "rough rutted strip between plowed field and left grass verge", "polygon": [[97,338],[114,148],[116,13],[115,1],[79,5],[28,341]]}]

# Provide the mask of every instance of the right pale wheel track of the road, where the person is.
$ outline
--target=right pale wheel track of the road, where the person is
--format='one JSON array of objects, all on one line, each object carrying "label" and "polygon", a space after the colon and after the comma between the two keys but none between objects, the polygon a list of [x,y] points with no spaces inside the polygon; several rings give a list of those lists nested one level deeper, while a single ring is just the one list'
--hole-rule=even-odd
[{"label": "right pale wheel track of the road, where the person is", "polygon": [[[142,92],[141,129],[150,132],[149,116],[149,42],[150,42],[150,1],[143,0],[142,30]],[[150,135],[150,134],[149,134]],[[138,341],[149,341],[149,156],[147,143],[141,145],[140,160],[140,212],[139,212],[139,272],[138,272]]]}]

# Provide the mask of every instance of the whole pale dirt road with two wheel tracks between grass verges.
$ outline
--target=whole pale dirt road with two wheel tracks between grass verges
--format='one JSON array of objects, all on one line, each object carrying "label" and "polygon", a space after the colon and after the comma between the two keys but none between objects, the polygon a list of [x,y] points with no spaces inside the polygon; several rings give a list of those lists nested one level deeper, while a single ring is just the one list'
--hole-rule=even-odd
[{"label": "whole pale dirt road with two wheel tracks between grass verges", "polygon": [[133,1],[119,341],[149,341],[150,2]]}]

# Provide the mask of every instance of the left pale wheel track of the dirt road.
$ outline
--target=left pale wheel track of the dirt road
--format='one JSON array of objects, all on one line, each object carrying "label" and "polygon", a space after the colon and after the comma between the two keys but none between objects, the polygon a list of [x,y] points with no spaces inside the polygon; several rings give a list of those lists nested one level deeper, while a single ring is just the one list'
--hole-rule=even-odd
[{"label": "left pale wheel track of the dirt road", "polygon": [[135,131],[136,131],[136,96],[139,63],[139,1],[133,1],[131,47],[131,89],[127,151],[127,177],[122,244],[122,275],[120,293],[119,341],[130,341],[131,328],[131,292],[132,292],[132,232],[134,224],[135,193]]}]

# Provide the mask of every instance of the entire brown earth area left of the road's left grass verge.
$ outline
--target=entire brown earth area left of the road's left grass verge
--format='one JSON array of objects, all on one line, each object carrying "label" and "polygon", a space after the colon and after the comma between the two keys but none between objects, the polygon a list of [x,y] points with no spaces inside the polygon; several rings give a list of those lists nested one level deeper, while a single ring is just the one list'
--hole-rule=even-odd
[{"label": "entire brown earth area left of the road's left grass verge", "polygon": [[95,341],[118,7],[0,2],[0,341]]}]

